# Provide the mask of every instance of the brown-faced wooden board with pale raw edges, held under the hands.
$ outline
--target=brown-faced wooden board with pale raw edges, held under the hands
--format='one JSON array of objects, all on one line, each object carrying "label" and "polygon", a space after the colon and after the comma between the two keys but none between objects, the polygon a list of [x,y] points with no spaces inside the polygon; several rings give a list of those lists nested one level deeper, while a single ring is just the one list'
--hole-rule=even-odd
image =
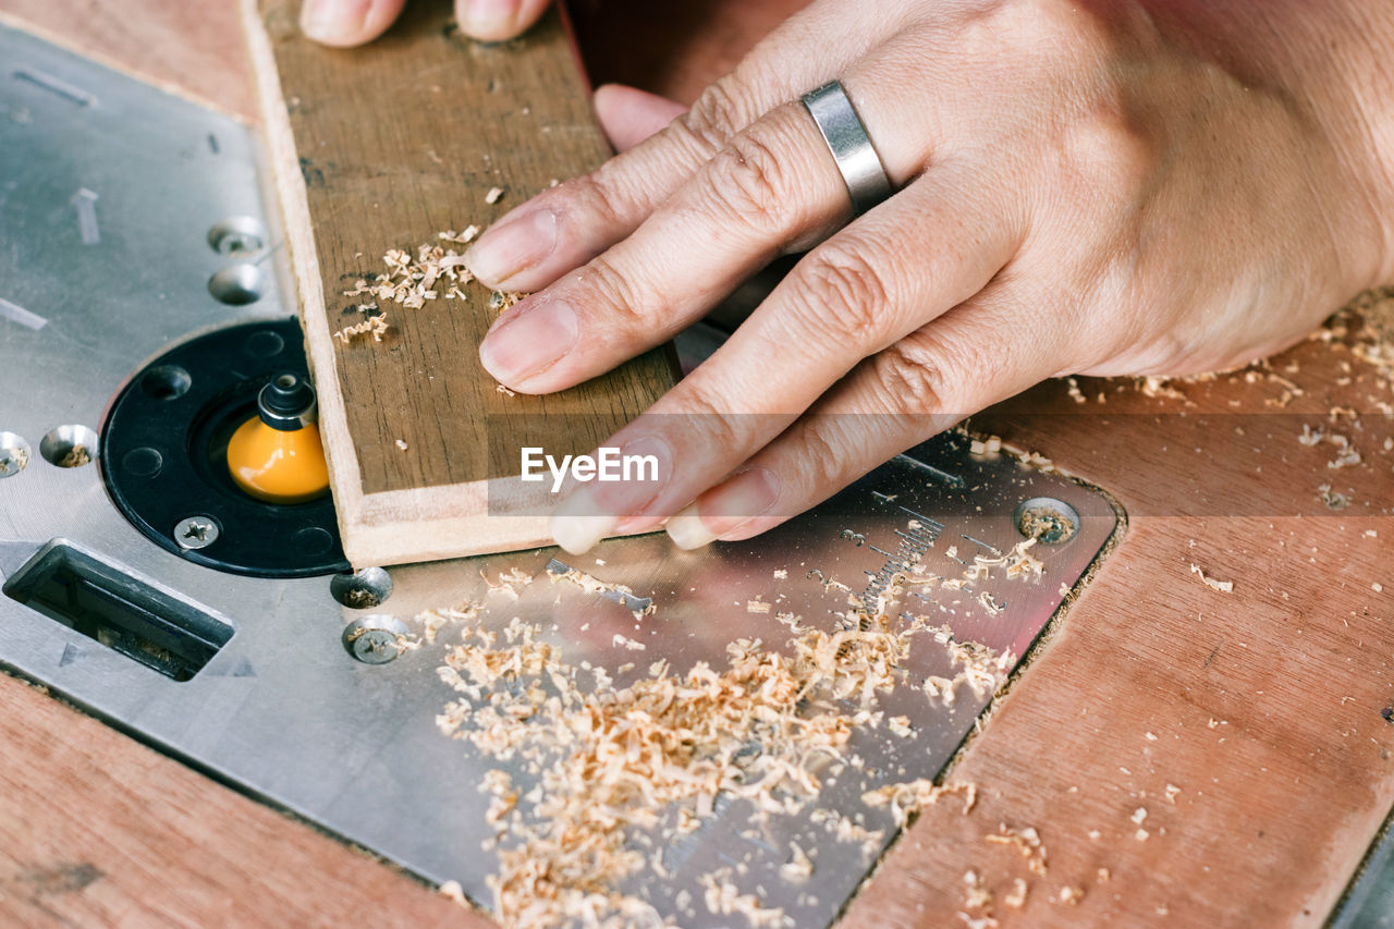
[{"label": "brown-faced wooden board with pale raw edges, held under the hands", "polygon": [[[388,250],[414,254],[441,244],[438,232],[488,226],[605,159],[565,24],[553,11],[524,39],[482,46],[456,31],[446,4],[414,3],[382,39],[340,50],[300,35],[298,3],[245,3],[348,559],[548,541],[555,499],[507,480],[521,448],[594,449],[673,384],[665,352],[560,393],[507,396],[478,361],[498,315],[478,285],[467,300],[417,310],[368,300],[386,310],[382,342],[333,333],[362,319],[365,299],[344,290],[381,272]],[[489,204],[495,187],[505,194]],[[524,488],[509,511],[521,515],[500,516],[499,495]]]}]

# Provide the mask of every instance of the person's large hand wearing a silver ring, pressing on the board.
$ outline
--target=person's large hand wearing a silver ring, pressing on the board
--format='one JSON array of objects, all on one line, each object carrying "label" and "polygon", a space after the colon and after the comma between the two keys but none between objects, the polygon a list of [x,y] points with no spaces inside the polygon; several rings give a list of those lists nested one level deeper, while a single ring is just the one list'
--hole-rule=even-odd
[{"label": "person's large hand wearing a silver ring, pressing on the board", "polygon": [[[484,367],[548,393],[811,248],[605,444],[657,455],[661,480],[581,485],[558,541],[665,520],[683,547],[746,538],[1044,378],[1223,370],[1301,339],[1394,265],[1390,20],[1386,0],[818,0],[468,252],[533,292]],[[829,78],[899,188],[850,225],[796,102]]]}]

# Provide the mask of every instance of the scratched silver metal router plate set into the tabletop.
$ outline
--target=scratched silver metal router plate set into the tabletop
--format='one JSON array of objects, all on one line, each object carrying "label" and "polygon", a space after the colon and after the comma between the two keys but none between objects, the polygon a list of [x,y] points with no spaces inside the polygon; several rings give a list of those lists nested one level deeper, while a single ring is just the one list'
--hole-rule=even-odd
[{"label": "scratched silver metal router plate set into the tabletop", "polygon": [[[329,577],[258,580],[190,564],[124,522],[96,466],[61,469],[39,455],[56,427],[99,430],[109,399],[171,342],[290,314],[277,294],[273,233],[247,257],[266,272],[258,301],[227,305],[206,287],[234,262],[209,247],[208,230],[229,216],[266,222],[254,139],[226,117],[10,29],[0,29],[0,434],[18,435],[32,449],[22,470],[0,478],[0,580],[14,580],[46,545],[74,545],[236,630],[199,674],[177,682],[0,597],[0,664],[248,794],[424,877],[459,880],[473,898],[488,901],[485,877],[495,861],[481,843],[492,830],[484,819],[488,796],[477,785],[499,764],[436,730],[436,711],[456,696],[435,674],[442,643],[389,664],[354,661],[342,633],[364,612],[340,605]],[[949,558],[949,545],[963,562],[1009,548],[1020,538],[1012,511],[1043,495],[1082,518],[1068,543],[1037,547],[1044,577],[994,577],[965,591],[920,593],[902,605],[930,625],[948,624],[959,639],[1020,656],[1057,608],[1061,586],[1076,582],[1114,530],[1115,516],[1096,491],[1005,456],[972,456],[958,437],[885,464],[750,543],[682,552],[664,537],[644,537],[567,561],[652,598],[657,612],[637,626],[625,604],[549,580],[552,550],[395,568],[393,593],[371,612],[410,618],[484,597],[481,572],[519,568],[538,579],[516,603],[492,594],[485,622],[541,622],[569,661],[611,671],[658,658],[677,672],[696,661],[722,667],[735,637],[772,646],[788,639],[776,611],[828,629],[845,622],[848,593],[829,580],[860,594],[868,584],[874,591],[884,569],[912,552],[931,571],[956,576],[965,565]],[[788,579],[776,582],[776,569]],[[984,593],[1001,612],[981,605]],[[747,612],[747,600],[757,597],[774,604],[771,614]],[[618,647],[616,633],[644,650]],[[447,628],[442,639],[450,637]],[[952,677],[944,649],[919,636],[907,681],[930,674]],[[888,716],[912,720],[913,737],[857,732],[864,769],[829,777],[818,805],[861,816],[889,841],[888,813],[861,809],[861,791],[937,774],[986,702],[960,689],[944,707],[914,686],[884,697]],[[790,840],[814,861],[806,886],[783,884],[774,873],[788,861]],[[701,830],[655,852],[672,876],[645,872],[627,890],[686,926],[732,922],[700,905],[680,912],[676,904],[684,889],[700,901],[698,876],[722,866],[743,869],[737,886],[785,907],[790,923],[825,925],[877,855],[834,841],[807,816],[751,833],[740,802],[718,803]]]}]

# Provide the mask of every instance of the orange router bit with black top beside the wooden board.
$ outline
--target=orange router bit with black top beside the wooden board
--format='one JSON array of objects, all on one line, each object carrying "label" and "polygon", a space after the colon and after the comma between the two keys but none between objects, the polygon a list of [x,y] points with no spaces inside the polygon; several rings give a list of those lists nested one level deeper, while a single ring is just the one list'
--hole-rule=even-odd
[{"label": "orange router bit with black top beside the wooden board", "polygon": [[329,466],[315,425],[315,389],[296,374],[276,375],[256,395],[256,416],[227,442],[227,470],[248,495],[304,504],[329,490]]}]

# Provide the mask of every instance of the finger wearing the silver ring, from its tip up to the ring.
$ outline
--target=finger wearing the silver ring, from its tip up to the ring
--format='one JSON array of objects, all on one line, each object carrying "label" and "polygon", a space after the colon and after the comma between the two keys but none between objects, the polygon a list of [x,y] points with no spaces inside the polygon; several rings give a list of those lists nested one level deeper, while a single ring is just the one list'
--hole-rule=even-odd
[{"label": "finger wearing the silver ring, from its tip up to the ring", "polygon": [[800,106],[774,110],[634,234],[500,315],[480,346],[485,370],[551,393],[687,328],[804,230],[848,212],[822,145]]}]

